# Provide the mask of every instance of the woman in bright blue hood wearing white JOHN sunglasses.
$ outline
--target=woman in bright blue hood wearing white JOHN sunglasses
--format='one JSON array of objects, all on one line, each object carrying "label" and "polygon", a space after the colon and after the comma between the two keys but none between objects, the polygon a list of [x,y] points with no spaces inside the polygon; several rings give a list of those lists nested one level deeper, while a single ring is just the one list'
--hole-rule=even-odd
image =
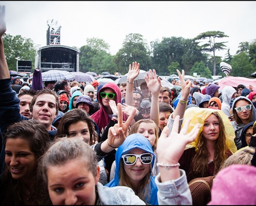
[{"label": "woman in bright blue hood wearing white JOHN sunglasses", "polygon": [[[137,189],[132,188],[131,185],[134,184],[131,183],[133,180],[133,176],[131,173],[133,171],[131,169],[127,170],[125,169],[126,166],[131,167],[134,165],[136,167],[136,164],[138,164],[138,157],[133,156],[134,149],[142,150],[143,153],[149,154],[150,157],[150,163],[146,162],[143,163],[143,160],[148,160],[149,157],[140,157],[141,163],[143,166],[151,164],[149,167],[148,173],[145,174],[144,177],[141,177],[140,180],[137,180]],[[125,157],[125,155],[130,155]],[[152,177],[152,171],[151,168],[154,166],[155,161],[155,154],[152,149],[152,146],[150,145],[149,141],[145,136],[139,133],[130,134],[126,137],[124,143],[118,147],[116,154],[115,154],[115,160],[116,160],[116,167],[115,167],[115,176],[114,179],[111,180],[106,186],[108,187],[114,187],[114,186],[128,186],[131,187],[132,190],[136,195],[138,195],[143,201],[145,201],[147,204],[157,205],[157,186],[155,183],[155,177]],[[127,162],[127,163],[126,163]],[[130,165],[127,165],[130,164]],[[142,166],[141,166],[142,167]],[[145,170],[145,168],[144,168]],[[129,174],[127,174],[129,173]],[[120,176],[122,174],[122,176]],[[142,174],[142,173],[141,173]],[[147,192],[146,197],[143,197],[143,194]]]}]

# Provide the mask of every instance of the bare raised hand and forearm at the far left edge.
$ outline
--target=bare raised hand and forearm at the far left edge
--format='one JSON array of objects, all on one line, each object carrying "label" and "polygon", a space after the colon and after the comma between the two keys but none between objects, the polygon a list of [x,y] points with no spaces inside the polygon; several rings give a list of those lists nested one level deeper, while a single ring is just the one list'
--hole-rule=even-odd
[{"label": "bare raised hand and forearm at the far left edge", "polygon": [[5,59],[3,35],[6,31],[5,6],[0,5],[0,79],[9,79],[10,73]]}]

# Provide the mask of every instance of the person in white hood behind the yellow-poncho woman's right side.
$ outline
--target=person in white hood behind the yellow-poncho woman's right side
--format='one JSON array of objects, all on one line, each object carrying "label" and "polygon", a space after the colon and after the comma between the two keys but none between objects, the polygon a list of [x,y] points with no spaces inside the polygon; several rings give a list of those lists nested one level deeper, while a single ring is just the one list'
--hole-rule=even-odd
[{"label": "person in white hood behind the yellow-poncho woman's right side", "polygon": [[230,102],[231,99],[235,97],[236,90],[231,86],[225,86],[221,91],[221,110],[225,113],[225,115],[230,116]]}]

